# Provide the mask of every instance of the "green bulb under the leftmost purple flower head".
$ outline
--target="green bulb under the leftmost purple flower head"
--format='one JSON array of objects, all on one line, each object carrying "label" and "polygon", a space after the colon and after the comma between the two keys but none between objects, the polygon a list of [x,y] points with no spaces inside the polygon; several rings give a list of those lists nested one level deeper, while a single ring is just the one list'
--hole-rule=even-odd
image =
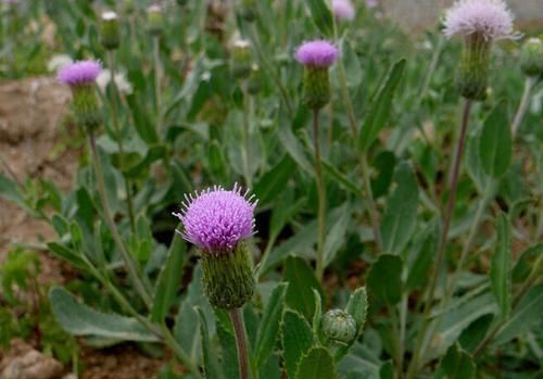
[{"label": "green bulb under the leftmost purple flower head", "polygon": [[76,123],[87,131],[96,130],[102,123],[102,114],[98,106],[96,88],[93,85],[72,87],[72,110]]}]

